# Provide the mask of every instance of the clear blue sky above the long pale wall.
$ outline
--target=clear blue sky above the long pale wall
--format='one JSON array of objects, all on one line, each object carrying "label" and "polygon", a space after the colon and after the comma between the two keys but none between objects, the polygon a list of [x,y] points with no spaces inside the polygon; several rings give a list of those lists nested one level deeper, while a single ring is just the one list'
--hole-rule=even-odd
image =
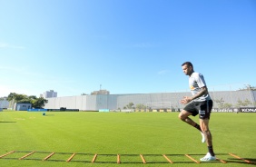
[{"label": "clear blue sky above the long pale wall", "polygon": [[0,0],[0,97],[256,86],[255,0]]}]

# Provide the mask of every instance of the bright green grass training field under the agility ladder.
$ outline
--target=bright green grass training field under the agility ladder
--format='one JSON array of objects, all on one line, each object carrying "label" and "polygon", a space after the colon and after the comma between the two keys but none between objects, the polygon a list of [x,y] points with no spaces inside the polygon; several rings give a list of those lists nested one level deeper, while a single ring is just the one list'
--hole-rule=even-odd
[{"label": "bright green grass training field under the agility ladder", "polygon": [[[198,117],[192,118],[198,123]],[[197,164],[207,152],[201,134],[178,113],[0,112],[0,166],[252,166],[256,114],[212,113],[214,151],[222,162]],[[24,160],[18,160],[34,152]],[[47,161],[42,161],[56,152]],[[73,153],[71,162],[65,162]],[[94,154],[98,154],[94,163]],[[120,154],[121,164],[116,163]],[[146,160],[143,164],[140,154]],[[167,162],[162,154],[172,160]]]}]

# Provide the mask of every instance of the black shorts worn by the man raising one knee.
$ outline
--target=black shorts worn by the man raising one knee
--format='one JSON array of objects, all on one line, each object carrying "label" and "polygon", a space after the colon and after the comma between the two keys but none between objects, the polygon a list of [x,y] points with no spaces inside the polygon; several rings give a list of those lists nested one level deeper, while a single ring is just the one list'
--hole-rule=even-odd
[{"label": "black shorts worn by the man raising one knee", "polygon": [[212,104],[212,100],[203,102],[192,102],[187,104],[183,110],[192,113],[192,116],[195,116],[199,113],[200,119],[210,119]]}]

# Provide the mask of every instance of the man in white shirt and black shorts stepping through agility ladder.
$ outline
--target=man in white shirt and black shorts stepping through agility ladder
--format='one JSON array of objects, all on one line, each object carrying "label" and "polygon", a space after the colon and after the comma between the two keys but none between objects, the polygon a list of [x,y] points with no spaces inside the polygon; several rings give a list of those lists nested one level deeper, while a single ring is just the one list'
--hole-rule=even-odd
[{"label": "man in white shirt and black shorts stepping through agility ladder", "polygon": [[[182,64],[183,73],[189,75],[189,86],[191,88],[192,96],[185,96],[182,100],[182,104],[186,104],[182,112],[179,114],[179,118],[189,123],[202,133],[202,142],[207,143],[208,153],[201,158],[203,162],[216,160],[215,153],[212,148],[212,134],[209,129],[209,120],[212,110],[212,99],[208,93],[206,83],[202,74],[193,71],[192,63],[185,62]],[[195,116],[199,113],[200,125],[193,122],[190,115]]]}]

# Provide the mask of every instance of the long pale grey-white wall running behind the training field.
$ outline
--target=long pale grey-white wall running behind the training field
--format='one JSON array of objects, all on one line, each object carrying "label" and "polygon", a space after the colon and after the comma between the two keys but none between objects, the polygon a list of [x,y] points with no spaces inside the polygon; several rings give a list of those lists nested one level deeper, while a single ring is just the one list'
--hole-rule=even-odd
[{"label": "long pale grey-white wall running behind the training field", "polygon": [[[98,111],[100,109],[117,110],[123,109],[127,104],[143,104],[153,109],[181,109],[180,102],[183,96],[191,93],[133,93],[133,94],[98,94],[78,95],[67,97],[46,98],[48,103],[45,109],[79,109],[80,111]],[[220,105],[239,107],[243,103],[247,106],[255,106],[256,91],[220,91],[210,92],[213,100],[213,108]],[[243,102],[243,103],[242,103]]]}]

